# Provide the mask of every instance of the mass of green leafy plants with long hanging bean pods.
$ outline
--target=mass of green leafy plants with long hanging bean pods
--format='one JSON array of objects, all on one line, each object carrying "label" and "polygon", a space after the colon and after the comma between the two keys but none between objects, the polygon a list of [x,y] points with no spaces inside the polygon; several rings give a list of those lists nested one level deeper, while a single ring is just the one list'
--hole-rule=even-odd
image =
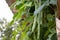
[{"label": "mass of green leafy plants with long hanging bean pods", "polygon": [[1,22],[1,38],[3,40],[57,40],[56,3],[57,0],[16,0],[10,6],[17,10],[13,20],[10,23]]}]

